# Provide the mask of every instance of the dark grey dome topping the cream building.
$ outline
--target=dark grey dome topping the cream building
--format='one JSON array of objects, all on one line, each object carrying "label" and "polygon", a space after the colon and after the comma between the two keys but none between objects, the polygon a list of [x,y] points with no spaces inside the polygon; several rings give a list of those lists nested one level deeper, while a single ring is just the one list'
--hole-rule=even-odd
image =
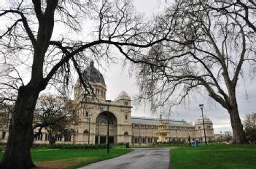
[{"label": "dark grey dome topping the cream building", "polygon": [[88,78],[88,81],[92,81],[94,83],[101,83],[106,86],[103,75],[99,70],[96,69],[96,67],[94,67],[93,60],[90,61],[90,66],[83,71],[82,75],[85,75],[85,77]]}]

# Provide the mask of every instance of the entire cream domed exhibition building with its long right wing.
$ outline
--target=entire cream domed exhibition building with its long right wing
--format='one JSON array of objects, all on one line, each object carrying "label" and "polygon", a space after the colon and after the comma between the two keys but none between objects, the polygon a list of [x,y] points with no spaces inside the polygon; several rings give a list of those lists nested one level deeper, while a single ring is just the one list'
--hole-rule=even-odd
[{"label": "entire cream domed exhibition building with its long right wing", "polygon": [[[204,141],[204,130],[207,141],[214,139],[212,120],[204,117],[195,119],[194,123],[185,120],[168,120],[159,118],[141,118],[131,116],[131,97],[125,91],[120,92],[112,101],[106,100],[106,84],[103,75],[90,62],[90,66],[84,71],[84,75],[90,81],[90,86],[97,96],[86,96],[80,81],[74,87],[74,103],[81,103],[77,111],[79,120],[69,124],[74,133],[69,136],[59,136],[56,143],[71,144],[105,144],[109,132],[110,144],[153,144],[164,136],[162,141]],[[97,98],[97,99],[95,99]],[[1,106],[1,105],[0,105]],[[0,107],[1,115],[4,109]],[[136,115],[136,112],[133,112]],[[34,117],[34,120],[40,120]],[[6,143],[8,139],[8,126],[0,128],[0,143]],[[109,130],[108,130],[109,128]],[[36,129],[35,129],[36,132]],[[49,134],[42,130],[42,134],[34,139],[34,144],[48,144]]]}]

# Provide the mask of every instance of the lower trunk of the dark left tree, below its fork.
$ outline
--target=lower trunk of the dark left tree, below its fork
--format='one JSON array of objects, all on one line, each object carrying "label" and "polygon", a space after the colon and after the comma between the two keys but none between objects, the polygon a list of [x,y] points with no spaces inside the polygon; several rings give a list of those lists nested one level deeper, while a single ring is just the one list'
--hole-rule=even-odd
[{"label": "lower trunk of the dark left tree, below its fork", "polygon": [[31,160],[33,144],[33,115],[39,92],[31,86],[21,86],[15,111],[9,126],[9,138],[1,169],[29,169],[35,165]]}]

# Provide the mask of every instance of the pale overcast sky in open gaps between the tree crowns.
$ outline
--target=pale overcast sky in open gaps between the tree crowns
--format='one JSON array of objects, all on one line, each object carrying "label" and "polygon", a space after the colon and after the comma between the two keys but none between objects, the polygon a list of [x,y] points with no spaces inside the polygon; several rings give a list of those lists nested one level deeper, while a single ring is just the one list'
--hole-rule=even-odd
[{"label": "pale overcast sky in open gaps between the tree crowns", "polygon": [[[152,17],[153,13],[160,12],[161,7],[159,0],[135,0],[134,5],[139,12],[144,12],[147,17]],[[121,91],[126,91],[131,98],[138,93],[135,78],[128,75],[128,68],[123,68],[122,62],[110,65],[109,69],[106,68],[103,74],[106,81],[107,99],[115,100]],[[242,79],[240,79],[238,83],[237,99],[241,118],[244,118],[244,115],[247,113],[256,111],[255,85],[255,81],[244,81]],[[231,131],[230,118],[227,110],[222,108],[219,104],[212,102],[208,96],[196,96],[195,98],[190,99],[188,104],[175,107],[171,118],[195,121],[201,115],[201,110],[200,107],[198,107],[198,104],[204,104],[203,113],[213,121],[214,133]],[[141,107],[133,107],[131,115],[153,118],[158,117],[158,115],[152,115],[149,106],[144,105],[141,105]]]}]

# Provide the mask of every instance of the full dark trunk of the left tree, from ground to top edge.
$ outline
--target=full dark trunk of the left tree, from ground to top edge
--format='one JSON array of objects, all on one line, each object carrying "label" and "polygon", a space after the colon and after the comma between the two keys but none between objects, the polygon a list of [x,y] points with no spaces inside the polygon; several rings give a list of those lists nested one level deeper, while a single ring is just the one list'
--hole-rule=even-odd
[{"label": "full dark trunk of the left tree, from ground to top edge", "polygon": [[31,160],[30,148],[33,144],[33,115],[40,91],[44,90],[47,81],[43,81],[44,56],[49,46],[53,28],[54,13],[58,0],[45,1],[44,12],[40,1],[33,1],[36,17],[39,22],[37,37],[32,39],[34,60],[31,70],[31,81],[20,86],[15,111],[9,127],[9,138],[0,169],[29,169],[35,165]]}]

